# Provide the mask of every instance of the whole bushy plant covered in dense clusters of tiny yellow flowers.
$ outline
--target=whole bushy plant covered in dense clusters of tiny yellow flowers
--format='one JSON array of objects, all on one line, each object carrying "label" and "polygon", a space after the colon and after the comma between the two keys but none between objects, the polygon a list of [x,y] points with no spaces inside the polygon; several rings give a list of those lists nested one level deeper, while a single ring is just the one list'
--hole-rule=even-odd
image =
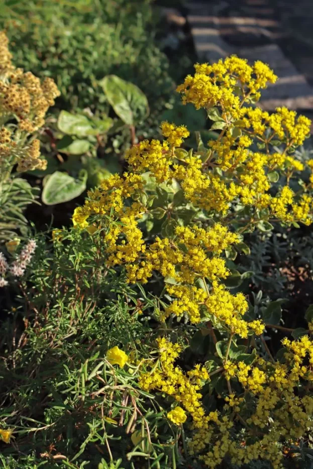
[{"label": "whole bushy plant covered in dense clusters of tiny yellow flowers", "polygon": [[[229,260],[248,248],[246,232],[313,221],[313,164],[293,156],[310,121],[285,107],[270,114],[255,106],[276,79],[266,64],[235,56],[197,64],[177,90],[184,103],[206,109],[218,138],[187,151],[188,130],[162,123],[164,140],[133,146],[128,171],[90,191],[73,215],[75,226],[101,230],[108,268],[122,266],[141,291],[155,292],[156,279],[164,287],[155,311],[157,356],[143,363],[138,386],[173,402],[168,419],[189,425],[189,455],[211,468],[224,458],[237,465],[262,458],[280,469],[282,442],[305,440],[313,426],[312,318],[299,340],[283,340],[275,360],[263,336],[273,324],[228,289]],[[216,351],[206,367],[177,366],[177,318],[212,338]],[[223,402],[206,412],[200,389],[210,382]]]}]

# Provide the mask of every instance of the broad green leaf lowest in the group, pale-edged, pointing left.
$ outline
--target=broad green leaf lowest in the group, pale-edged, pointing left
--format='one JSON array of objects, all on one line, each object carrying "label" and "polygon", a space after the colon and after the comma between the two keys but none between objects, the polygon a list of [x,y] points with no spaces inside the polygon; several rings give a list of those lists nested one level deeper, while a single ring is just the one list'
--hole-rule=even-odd
[{"label": "broad green leaf lowest in the group, pale-edged, pointing left", "polygon": [[42,192],[42,201],[46,205],[67,202],[78,197],[86,189],[87,171],[81,170],[78,179],[67,173],[56,171],[48,177]]}]

